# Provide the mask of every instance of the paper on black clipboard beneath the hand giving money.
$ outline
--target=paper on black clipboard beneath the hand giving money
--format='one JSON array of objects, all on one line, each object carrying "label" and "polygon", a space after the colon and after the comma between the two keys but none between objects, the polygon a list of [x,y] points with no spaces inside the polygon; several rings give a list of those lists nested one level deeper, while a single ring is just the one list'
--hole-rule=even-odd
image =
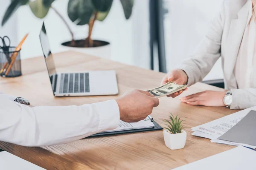
[{"label": "paper on black clipboard beneath the hand giving money", "polygon": [[106,130],[105,132],[116,132],[121,130],[132,130],[132,129],[145,129],[154,127],[154,123],[150,120],[141,120],[136,123],[127,123],[120,120],[119,125],[116,129],[113,130]]}]

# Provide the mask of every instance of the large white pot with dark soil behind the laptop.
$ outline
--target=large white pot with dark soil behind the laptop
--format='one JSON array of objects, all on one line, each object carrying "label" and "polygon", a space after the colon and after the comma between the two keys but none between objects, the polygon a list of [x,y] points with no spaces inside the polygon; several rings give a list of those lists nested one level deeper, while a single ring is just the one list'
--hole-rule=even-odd
[{"label": "large white pot with dark soil behind the laptop", "polygon": [[75,42],[75,46],[71,45],[71,41],[63,42],[61,45],[65,50],[78,51],[96,57],[111,59],[111,46],[109,42],[94,40],[93,47],[84,47],[82,44],[84,40],[76,40]]}]

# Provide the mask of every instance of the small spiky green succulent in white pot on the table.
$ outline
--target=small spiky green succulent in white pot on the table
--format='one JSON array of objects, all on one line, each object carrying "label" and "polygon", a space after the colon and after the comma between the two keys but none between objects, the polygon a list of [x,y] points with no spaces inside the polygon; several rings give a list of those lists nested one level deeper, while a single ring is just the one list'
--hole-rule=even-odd
[{"label": "small spiky green succulent in white pot on the table", "polygon": [[182,149],[186,144],[186,132],[183,130],[183,120],[177,119],[171,113],[170,120],[166,122],[166,130],[163,130],[163,138],[167,147],[171,150]]}]

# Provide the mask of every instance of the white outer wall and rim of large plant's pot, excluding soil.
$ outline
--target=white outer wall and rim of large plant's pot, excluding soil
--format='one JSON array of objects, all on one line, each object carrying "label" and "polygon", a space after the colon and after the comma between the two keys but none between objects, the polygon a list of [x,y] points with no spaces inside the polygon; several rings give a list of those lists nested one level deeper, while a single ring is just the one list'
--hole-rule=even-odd
[{"label": "white outer wall and rim of large plant's pot, excluding soil", "polygon": [[67,42],[62,43],[61,48],[65,51],[77,51],[84,54],[89,54],[95,57],[101,57],[105,59],[111,59],[111,45],[108,43],[107,45],[99,46],[99,47],[70,47],[65,46],[64,44]]}]

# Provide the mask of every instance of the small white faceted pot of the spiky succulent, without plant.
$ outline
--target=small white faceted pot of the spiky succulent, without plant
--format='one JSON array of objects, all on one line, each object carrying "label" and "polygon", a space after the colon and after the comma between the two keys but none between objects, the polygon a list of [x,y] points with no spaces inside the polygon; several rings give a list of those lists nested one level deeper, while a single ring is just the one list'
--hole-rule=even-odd
[{"label": "small white faceted pot of the spiky succulent, without plant", "polygon": [[163,138],[167,147],[171,150],[182,149],[186,144],[186,132],[171,134],[168,130],[163,130]]}]

